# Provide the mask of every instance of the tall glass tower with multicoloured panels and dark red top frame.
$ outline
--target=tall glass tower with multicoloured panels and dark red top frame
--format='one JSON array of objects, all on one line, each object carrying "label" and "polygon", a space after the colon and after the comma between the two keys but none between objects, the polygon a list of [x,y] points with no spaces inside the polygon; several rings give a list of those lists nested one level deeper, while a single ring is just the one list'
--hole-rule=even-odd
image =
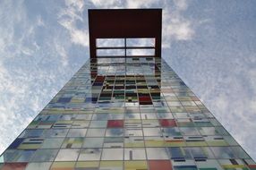
[{"label": "tall glass tower with multicoloured panels and dark red top frame", "polygon": [[255,170],[161,57],[160,9],[90,10],[90,60],[0,157],[2,170]]}]

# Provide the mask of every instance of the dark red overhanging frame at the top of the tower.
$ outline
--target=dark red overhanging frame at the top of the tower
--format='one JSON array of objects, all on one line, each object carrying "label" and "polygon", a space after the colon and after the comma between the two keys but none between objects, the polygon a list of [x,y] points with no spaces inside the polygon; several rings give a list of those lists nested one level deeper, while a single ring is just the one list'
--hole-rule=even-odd
[{"label": "dark red overhanging frame at the top of the tower", "polygon": [[[90,58],[97,59],[97,49],[118,48],[155,48],[154,57],[161,57],[161,30],[161,9],[89,10]],[[97,47],[97,38],[155,38],[155,47]]]}]

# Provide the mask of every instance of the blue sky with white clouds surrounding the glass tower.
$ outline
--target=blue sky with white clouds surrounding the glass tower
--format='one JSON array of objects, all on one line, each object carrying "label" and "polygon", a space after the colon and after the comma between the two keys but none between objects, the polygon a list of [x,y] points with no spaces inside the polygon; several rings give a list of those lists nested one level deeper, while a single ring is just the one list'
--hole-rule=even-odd
[{"label": "blue sky with white clouds surrounding the glass tower", "polygon": [[256,160],[253,0],[1,0],[0,153],[89,58],[96,8],[162,8],[162,57]]}]

